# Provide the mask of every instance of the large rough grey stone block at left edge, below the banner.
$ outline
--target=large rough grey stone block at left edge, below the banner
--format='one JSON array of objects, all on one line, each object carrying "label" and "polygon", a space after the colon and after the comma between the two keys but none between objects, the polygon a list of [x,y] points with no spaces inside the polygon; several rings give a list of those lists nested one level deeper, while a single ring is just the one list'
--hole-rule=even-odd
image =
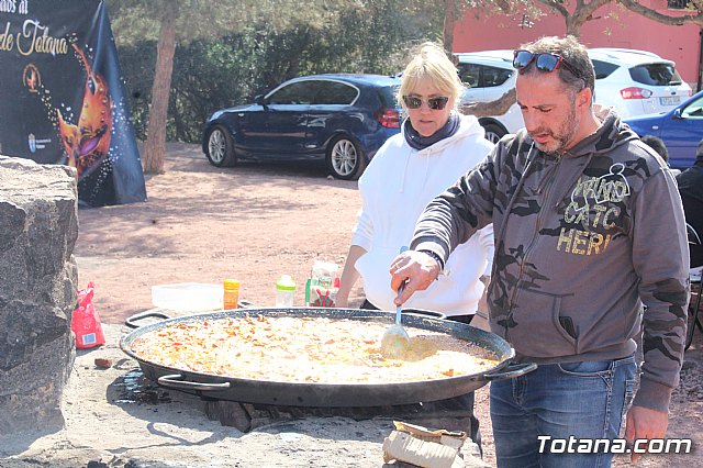
[{"label": "large rough grey stone block at left edge, below the banner", "polygon": [[0,434],[64,424],[77,193],[74,168],[0,156]]}]

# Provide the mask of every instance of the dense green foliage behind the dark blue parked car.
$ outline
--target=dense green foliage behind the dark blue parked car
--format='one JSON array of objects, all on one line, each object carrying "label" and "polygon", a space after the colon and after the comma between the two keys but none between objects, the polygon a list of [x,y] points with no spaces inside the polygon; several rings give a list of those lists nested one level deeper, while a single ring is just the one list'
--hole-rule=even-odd
[{"label": "dense green foliage behind the dark blue parked car", "polygon": [[[213,111],[250,102],[295,76],[397,74],[408,62],[409,48],[436,40],[442,31],[442,14],[428,19],[402,0],[364,3],[364,9],[315,14],[311,21],[293,19],[281,25],[260,20],[226,35],[180,41],[174,57],[167,140],[199,142],[202,124]],[[141,140],[146,136],[156,62],[155,36],[149,37],[115,40]]]}]

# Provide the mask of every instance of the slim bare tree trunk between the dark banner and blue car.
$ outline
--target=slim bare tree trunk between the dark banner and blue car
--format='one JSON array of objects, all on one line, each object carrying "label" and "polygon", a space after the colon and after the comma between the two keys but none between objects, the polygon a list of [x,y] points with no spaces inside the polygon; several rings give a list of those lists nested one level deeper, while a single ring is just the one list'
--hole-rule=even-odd
[{"label": "slim bare tree trunk between the dark banner and blue car", "polygon": [[164,158],[166,156],[166,119],[168,118],[168,101],[174,71],[174,54],[176,53],[176,2],[164,2],[164,16],[158,34],[156,53],[156,70],[152,87],[152,105],[149,123],[144,147],[144,172],[164,174]]}]

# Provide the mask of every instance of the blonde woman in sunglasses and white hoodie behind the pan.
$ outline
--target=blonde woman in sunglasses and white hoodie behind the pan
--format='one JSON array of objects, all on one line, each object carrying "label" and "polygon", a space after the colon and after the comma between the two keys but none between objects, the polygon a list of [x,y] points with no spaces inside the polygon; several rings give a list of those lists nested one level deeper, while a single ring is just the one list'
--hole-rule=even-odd
[{"label": "blonde woman in sunglasses and white hoodie behind the pan", "polygon": [[[389,268],[401,246],[410,243],[415,221],[435,196],[492,149],[478,120],[457,112],[462,90],[445,52],[423,44],[403,71],[398,92],[408,113],[402,132],[383,144],[359,179],[361,210],[342,272],[337,307],[348,305],[349,291],[361,277],[366,294],[362,309],[395,309]],[[484,288],[479,278],[490,275],[492,256],[493,230],[488,226],[453,252],[446,275],[427,290],[415,292],[404,307],[471,322]],[[453,408],[470,412],[471,426],[466,430],[480,447],[473,393],[453,400]],[[423,408],[433,411],[432,403]]]}]

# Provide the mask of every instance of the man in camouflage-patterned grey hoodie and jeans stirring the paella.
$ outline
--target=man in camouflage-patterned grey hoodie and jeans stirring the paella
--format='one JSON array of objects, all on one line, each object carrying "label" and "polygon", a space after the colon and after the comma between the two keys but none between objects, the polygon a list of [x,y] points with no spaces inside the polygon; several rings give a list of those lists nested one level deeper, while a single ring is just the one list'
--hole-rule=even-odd
[{"label": "man in camouflage-patterned grey hoodie and jeans stirring the paella", "polygon": [[[391,264],[391,288],[406,282],[403,303],[492,222],[491,330],[517,360],[538,364],[491,383],[498,465],[610,466],[612,449],[588,447],[618,436],[643,304],[644,374],[625,438],[667,430],[689,297],[681,200],[661,158],[612,110],[593,108],[593,67],[573,37],[527,44],[513,65],[525,129],[427,205],[411,250]],[[581,453],[561,448],[570,437]]]}]

